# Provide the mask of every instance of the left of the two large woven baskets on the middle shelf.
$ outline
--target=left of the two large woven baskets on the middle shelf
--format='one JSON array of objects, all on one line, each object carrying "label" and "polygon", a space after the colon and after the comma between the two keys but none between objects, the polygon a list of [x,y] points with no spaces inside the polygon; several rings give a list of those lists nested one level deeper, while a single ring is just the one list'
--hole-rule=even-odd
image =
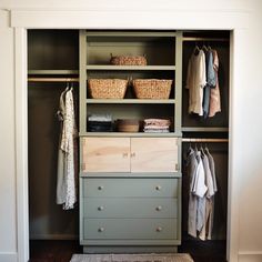
[{"label": "left of the two large woven baskets on the middle shelf", "polygon": [[90,79],[89,94],[93,99],[123,99],[128,88],[128,80],[123,79]]}]

